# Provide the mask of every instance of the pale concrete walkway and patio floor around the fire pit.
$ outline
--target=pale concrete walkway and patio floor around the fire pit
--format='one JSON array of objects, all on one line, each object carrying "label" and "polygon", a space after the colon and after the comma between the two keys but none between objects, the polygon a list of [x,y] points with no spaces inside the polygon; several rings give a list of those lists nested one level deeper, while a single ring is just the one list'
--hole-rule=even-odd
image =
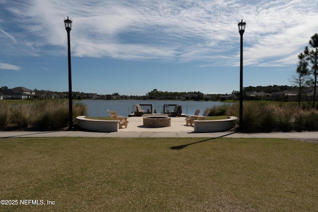
[{"label": "pale concrete walkway and patio floor around the fire pit", "polygon": [[184,117],[171,118],[171,126],[164,128],[144,128],[142,117],[130,117],[128,128],[118,132],[100,133],[86,131],[10,131],[0,132],[0,138],[18,137],[98,137],[98,138],[287,138],[287,139],[318,139],[318,132],[275,132],[244,134],[235,131],[219,133],[194,133],[192,126],[185,125]]}]

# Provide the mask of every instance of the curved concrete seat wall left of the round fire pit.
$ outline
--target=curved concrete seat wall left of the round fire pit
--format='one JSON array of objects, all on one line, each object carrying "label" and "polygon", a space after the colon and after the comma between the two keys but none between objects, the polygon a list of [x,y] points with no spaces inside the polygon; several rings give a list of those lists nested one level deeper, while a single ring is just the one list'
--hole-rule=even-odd
[{"label": "curved concrete seat wall left of the round fire pit", "polygon": [[118,120],[93,120],[86,119],[85,116],[76,117],[78,126],[92,131],[98,132],[118,132],[119,121]]}]

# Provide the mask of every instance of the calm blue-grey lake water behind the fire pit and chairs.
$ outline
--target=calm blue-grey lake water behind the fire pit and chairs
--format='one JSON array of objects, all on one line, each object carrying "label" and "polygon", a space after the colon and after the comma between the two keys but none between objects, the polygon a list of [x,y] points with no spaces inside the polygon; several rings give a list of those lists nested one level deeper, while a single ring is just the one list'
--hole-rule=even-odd
[{"label": "calm blue-grey lake water behind the fire pit and chairs", "polygon": [[[90,117],[107,117],[107,111],[115,111],[118,115],[128,117],[133,111],[133,105],[136,104],[152,104],[157,113],[161,113],[163,104],[178,104],[182,106],[182,113],[194,114],[197,109],[200,109],[200,115],[204,110],[213,106],[218,106],[222,102],[212,101],[169,101],[169,100],[82,100],[88,108],[87,116]],[[231,103],[230,103],[231,104]]]}]

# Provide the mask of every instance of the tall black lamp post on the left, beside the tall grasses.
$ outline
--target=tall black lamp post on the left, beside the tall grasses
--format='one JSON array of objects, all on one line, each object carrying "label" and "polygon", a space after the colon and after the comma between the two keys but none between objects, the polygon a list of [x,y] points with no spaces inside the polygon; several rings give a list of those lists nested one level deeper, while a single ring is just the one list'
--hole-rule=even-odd
[{"label": "tall black lamp post on the left, beside the tall grasses", "polygon": [[71,73],[71,44],[70,44],[70,32],[72,29],[72,19],[64,18],[65,29],[68,32],[68,52],[69,52],[69,131],[73,129],[73,105],[72,105],[72,73]]}]

